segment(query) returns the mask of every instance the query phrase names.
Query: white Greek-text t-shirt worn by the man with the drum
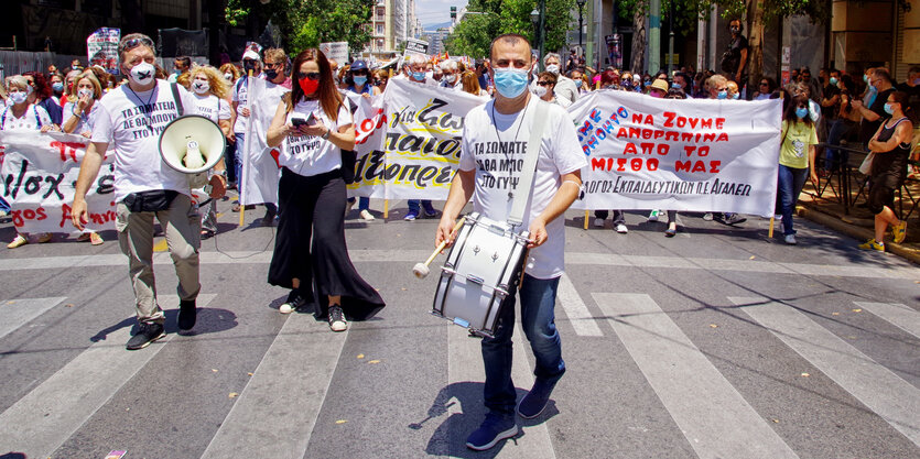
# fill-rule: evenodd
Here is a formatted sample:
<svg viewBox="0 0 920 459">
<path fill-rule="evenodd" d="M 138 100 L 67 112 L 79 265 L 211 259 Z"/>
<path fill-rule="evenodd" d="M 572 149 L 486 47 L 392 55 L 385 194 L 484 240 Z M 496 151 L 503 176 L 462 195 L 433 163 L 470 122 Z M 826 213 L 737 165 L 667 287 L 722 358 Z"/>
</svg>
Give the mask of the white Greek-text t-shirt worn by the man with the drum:
<svg viewBox="0 0 920 459">
<path fill-rule="evenodd" d="M 476 171 L 473 192 L 475 211 L 493 220 L 506 221 L 512 200 L 527 198 L 524 190 L 515 192 L 520 179 L 530 128 L 537 111 L 537 97 L 531 96 L 524 110 L 501 114 L 494 110 L 495 101 L 469 110 L 463 131 L 459 170 Z M 545 103 L 545 102 L 540 102 Z M 562 175 L 587 165 L 569 113 L 558 105 L 546 105 L 546 121 L 540 142 L 540 156 L 533 176 L 533 195 L 524 209 L 523 227 L 527 230 L 533 217 L 549 206 L 560 185 Z M 526 272 L 537 278 L 554 278 L 562 275 L 565 260 L 565 219 L 559 217 L 546 225 L 548 239 L 531 249 Z"/>
</svg>

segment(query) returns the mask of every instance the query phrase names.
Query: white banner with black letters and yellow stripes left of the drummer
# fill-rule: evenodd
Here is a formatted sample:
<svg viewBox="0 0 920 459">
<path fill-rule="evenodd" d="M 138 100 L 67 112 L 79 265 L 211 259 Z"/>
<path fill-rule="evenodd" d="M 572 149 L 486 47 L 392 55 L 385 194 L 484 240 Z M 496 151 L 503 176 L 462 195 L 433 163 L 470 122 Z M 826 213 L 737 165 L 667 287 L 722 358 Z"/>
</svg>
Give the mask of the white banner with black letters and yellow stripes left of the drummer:
<svg viewBox="0 0 920 459">
<path fill-rule="evenodd" d="M 464 118 L 485 100 L 405 79 L 390 79 L 382 98 L 381 119 L 356 120 L 358 131 L 361 125 L 376 130 L 355 146 L 353 195 L 446 199 L 459 162 Z"/>
</svg>

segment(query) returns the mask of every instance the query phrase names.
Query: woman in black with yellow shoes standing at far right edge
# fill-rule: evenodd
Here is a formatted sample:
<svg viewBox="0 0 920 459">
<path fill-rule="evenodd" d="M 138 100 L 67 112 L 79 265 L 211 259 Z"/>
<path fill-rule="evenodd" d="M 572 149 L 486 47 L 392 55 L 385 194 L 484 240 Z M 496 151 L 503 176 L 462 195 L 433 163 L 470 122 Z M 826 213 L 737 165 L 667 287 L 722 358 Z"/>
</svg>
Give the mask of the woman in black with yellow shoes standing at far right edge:
<svg viewBox="0 0 920 459">
<path fill-rule="evenodd" d="M 907 159 L 910 155 L 910 141 L 913 124 L 908 117 L 907 92 L 897 91 L 888 95 L 885 112 L 890 116 L 881 122 L 875 135 L 869 140 L 873 152 L 869 175 L 869 210 L 875 214 L 875 238 L 869 239 L 859 249 L 885 251 L 885 231 L 891 226 L 895 243 L 901 243 L 907 236 L 907 220 L 898 219 L 895 214 L 895 192 L 903 185 L 907 176 Z"/>
</svg>

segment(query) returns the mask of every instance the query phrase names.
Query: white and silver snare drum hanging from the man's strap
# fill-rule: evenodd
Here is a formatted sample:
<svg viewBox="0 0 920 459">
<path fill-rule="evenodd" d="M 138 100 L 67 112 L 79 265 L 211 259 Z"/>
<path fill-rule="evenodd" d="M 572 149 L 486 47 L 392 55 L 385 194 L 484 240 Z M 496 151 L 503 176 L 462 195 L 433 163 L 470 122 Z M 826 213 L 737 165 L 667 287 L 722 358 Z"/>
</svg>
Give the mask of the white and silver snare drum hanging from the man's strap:
<svg viewBox="0 0 920 459">
<path fill-rule="evenodd" d="M 501 303 L 518 286 L 528 236 L 509 223 L 468 215 L 441 267 L 432 314 L 493 337 Z"/>
</svg>

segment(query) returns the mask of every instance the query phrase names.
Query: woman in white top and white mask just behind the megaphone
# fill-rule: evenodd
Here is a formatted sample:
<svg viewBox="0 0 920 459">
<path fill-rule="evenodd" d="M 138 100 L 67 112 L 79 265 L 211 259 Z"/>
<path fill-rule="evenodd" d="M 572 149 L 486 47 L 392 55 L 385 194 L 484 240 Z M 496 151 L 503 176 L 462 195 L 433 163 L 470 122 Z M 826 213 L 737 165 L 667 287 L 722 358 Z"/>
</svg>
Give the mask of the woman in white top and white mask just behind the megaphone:
<svg viewBox="0 0 920 459">
<path fill-rule="evenodd" d="M 230 139 L 236 140 L 230 124 L 232 112 L 227 100 L 230 85 L 220 72 L 209 65 L 193 65 L 191 70 L 176 78 L 176 83 L 188 88 L 195 96 L 198 114 L 217 123 L 228 143 Z M 218 165 L 215 171 L 225 171 L 225 167 Z M 202 238 L 207 239 L 217 233 L 217 201 L 204 190 L 197 192 L 199 190 L 193 190 L 193 194 L 202 199 L 199 205 L 207 205 L 207 212 L 202 216 Z"/>
</svg>

